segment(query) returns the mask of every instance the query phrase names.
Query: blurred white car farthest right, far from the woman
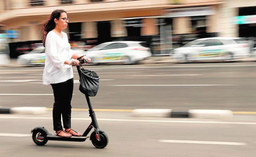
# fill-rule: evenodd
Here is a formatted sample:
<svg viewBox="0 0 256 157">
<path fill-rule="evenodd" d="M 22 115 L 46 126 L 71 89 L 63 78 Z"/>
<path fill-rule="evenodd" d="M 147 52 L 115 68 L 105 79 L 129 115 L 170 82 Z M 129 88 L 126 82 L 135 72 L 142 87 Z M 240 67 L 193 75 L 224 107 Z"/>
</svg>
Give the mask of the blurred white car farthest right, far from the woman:
<svg viewBox="0 0 256 157">
<path fill-rule="evenodd" d="M 180 62 L 224 60 L 249 57 L 250 47 L 241 38 L 201 38 L 174 49 L 173 57 Z"/>
</svg>

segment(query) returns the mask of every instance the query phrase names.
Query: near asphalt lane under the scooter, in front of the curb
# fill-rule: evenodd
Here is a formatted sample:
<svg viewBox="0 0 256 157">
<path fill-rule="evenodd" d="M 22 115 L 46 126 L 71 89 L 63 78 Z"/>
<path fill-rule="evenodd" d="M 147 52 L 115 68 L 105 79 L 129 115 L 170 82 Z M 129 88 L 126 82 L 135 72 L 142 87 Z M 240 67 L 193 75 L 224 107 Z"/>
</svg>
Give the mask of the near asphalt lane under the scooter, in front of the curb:
<svg viewBox="0 0 256 157">
<path fill-rule="evenodd" d="M 132 117 L 122 112 L 96 112 L 109 137 L 104 149 L 85 142 L 32 142 L 30 130 L 45 126 L 46 115 L 0 115 L 0 157 L 255 157 L 256 118 L 171 119 Z M 72 128 L 83 132 L 90 121 L 85 111 L 73 111 Z"/>
</svg>

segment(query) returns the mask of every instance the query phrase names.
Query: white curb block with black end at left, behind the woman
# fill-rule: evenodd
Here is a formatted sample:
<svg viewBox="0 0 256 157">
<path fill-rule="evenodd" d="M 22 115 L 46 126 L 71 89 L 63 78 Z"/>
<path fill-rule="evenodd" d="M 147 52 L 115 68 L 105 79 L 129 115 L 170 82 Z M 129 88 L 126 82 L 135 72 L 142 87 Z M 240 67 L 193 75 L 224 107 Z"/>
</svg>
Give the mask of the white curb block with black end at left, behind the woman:
<svg viewBox="0 0 256 157">
<path fill-rule="evenodd" d="M 47 107 L 0 107 L 0 114 L 39 115 L 47 113 Z"/>
</svg>

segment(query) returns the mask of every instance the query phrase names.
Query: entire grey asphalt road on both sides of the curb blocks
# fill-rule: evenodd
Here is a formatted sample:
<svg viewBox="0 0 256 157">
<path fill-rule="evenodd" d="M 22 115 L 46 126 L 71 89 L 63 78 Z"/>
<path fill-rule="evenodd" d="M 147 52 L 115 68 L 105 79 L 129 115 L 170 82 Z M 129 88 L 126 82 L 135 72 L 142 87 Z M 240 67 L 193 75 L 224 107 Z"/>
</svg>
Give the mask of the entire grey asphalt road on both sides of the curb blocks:
<svg viewBox="0 0 256 157">
<path fill-rule="evenodd" d="M 235 114 L 233 119 L 174 119 L 133 117 L 130 110 L 124 110 L 255 112 L 255 66 L 254 62 L 88 66 L 101 77 L 100 90 L 91 102 L 98 109 L 100 128 L 109 137 L 108 146 L 96 149 L 89 140 L 36 146 L 30 130 L 45 126 L 53 133 L 51 110 L 44 115 L 2 114 L 0 157 L 255 157 L 254 114 Z M 0 69 L 0 106 L 51 108 L 52 89 L 41 84 L 42 69 Z M 78 86 L 75 83 L 72 106 L 78 111 L 72 111 L 72 128 L 83 133 L 90 119 L 82 110 L 87 105 Z"/>
</svg>

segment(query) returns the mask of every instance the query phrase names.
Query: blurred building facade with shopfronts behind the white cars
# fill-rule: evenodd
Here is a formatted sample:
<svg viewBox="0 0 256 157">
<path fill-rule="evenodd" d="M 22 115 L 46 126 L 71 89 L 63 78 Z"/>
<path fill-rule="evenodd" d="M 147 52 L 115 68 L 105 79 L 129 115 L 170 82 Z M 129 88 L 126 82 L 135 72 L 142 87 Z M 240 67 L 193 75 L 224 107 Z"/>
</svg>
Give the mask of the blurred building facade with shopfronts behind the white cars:
<svg viewBox="0 0 256 157">
<path fill-rule="evenodd" d="M 10 58 L 41 43 L 41 24 L 55 9 L 80 50 L 110 41 L 143 41 L 151 54 L 171 55 L 192 40 L 242 37 L 255 46 L 256 2 L 249 0 L 0 0 L 0 51 Z"/>
</svg>

